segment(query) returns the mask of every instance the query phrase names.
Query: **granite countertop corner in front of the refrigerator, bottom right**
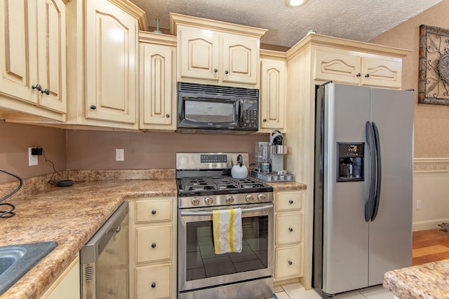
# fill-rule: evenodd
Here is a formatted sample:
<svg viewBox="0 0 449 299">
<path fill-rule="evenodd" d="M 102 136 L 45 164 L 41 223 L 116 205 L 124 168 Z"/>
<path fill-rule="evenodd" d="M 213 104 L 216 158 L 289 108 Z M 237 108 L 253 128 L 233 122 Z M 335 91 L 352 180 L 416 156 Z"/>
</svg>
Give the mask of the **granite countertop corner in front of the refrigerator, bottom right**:
<svg viewBox="0 0 449 299">
<path fill-rule="evenodd" d="M 391 270 L 383 286 L 398 298 L 449 298 L 449 260 Z"/>
</svg>

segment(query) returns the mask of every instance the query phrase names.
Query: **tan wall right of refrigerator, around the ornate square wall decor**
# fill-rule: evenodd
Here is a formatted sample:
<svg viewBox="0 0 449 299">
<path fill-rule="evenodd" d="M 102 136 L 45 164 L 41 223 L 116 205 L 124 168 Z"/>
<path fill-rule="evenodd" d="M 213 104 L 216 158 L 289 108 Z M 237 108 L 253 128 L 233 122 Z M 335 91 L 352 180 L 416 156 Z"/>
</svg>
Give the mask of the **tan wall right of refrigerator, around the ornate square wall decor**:
<svg viewBox="0 0 449 299">
<path fill-rule="evenodd" d="M 429 8 L 415 18 L 370 41 L 413 50 L 403 60 L 403 89 L 415 90 L 415 158 L 449 157 L 449 106 L 417 104 L 420 25 L 449 29 L 449 0 Z"/>
</svg>

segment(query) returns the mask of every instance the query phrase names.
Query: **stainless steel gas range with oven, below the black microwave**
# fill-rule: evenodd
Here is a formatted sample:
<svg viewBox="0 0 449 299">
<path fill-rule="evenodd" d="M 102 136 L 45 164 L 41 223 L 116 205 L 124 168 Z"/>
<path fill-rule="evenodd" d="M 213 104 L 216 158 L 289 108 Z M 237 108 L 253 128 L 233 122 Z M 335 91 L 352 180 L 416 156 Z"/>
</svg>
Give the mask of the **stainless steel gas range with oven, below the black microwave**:
<svg viewBox="0 0 449 299">
<path fill-rule="evenodd" d="M 178 298 L 271 298 L 273 189 L 230 176 L 238 153 L 177 153 Z M 248 165 L 248 153 L 241 154 Z M 215 254 L 213 209 L 241 208 L 241 253 Z"/>
</svg>

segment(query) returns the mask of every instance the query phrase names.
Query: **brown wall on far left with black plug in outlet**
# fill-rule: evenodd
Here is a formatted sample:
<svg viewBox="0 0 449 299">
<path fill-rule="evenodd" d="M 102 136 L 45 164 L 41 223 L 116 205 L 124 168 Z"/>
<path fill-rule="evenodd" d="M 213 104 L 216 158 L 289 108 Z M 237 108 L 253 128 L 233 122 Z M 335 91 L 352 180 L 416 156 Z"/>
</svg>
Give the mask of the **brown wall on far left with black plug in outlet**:
<svg viewBox="0 0 449 299">
<path fill-rule="evenodd" d="M 41 146 L 57 171 L 66 168 L 65 130 L 36 125 L 18 125 L 0 120 L 0 168 L 17 174 L 22 179 L 50 174 L 53 167 L 39 156 L 38 165 L 28 166 L 28 148 Z M 0 173 L 0 183 L 15 181 Z"/>
</svg>

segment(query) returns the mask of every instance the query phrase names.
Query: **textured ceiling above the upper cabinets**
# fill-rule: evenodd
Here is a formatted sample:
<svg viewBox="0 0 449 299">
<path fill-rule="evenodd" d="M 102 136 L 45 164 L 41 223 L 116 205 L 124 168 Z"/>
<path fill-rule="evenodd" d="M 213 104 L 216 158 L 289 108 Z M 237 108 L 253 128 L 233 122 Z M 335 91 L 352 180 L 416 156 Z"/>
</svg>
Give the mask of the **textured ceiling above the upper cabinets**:
<svg viewBox="0 0 449 299">
<path fill-rule="evenodd" d="M 268 29 L 261 43 L 291 47 L 309 30 L 329 36 L 370 41 L 441 0 L 309 0 L 287 8 L 284 0 L 130 0 L 147 13 L 149 26 L 169 13 Z"/>
</svg>

